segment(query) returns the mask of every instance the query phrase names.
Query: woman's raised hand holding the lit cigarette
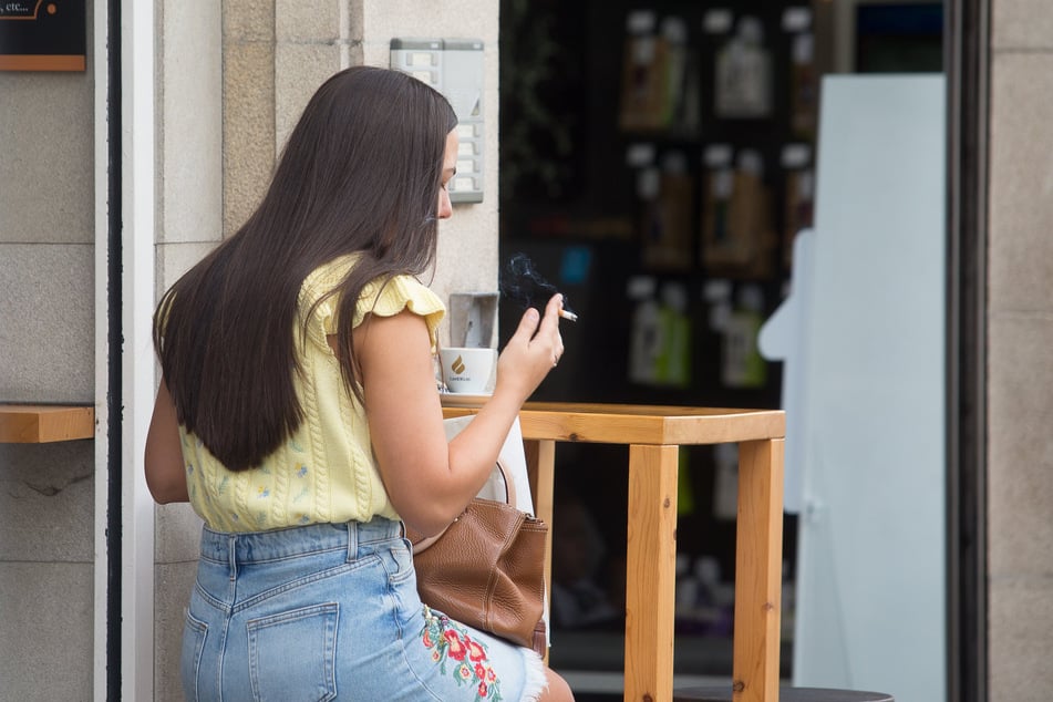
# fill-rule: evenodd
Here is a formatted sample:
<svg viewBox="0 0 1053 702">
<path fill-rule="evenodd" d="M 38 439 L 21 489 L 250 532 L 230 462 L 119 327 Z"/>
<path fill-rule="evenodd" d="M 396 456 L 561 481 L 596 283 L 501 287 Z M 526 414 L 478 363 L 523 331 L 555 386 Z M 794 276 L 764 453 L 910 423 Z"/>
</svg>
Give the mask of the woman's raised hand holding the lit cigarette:
<svg viewBox="0 0 1053 702">
<path fill-rule="evenodd" d="M 559 310 L 562 296 L 555 295 L 540 317 L 534 308 L 523 313 L 516 333 L 497 359 L 497 382 L 494 395 L 509 393 L 518 404 L 537 390 L 545 376 L 556 368 L 564 353 L 559 335 Z"/>
</svg>

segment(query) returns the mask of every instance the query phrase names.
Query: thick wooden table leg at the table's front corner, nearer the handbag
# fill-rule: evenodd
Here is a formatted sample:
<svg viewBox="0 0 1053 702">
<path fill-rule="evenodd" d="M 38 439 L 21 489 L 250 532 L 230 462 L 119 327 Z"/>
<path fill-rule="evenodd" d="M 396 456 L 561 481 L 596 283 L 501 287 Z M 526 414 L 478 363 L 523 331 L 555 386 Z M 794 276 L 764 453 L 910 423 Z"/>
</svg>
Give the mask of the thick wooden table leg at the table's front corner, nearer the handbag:
<svg viewBox="0 0 1053 702">
<path fill-rule="evenodd" d="M 678 453 L 629 447 L 626 702 L 673 698 Z"/>
</svg>

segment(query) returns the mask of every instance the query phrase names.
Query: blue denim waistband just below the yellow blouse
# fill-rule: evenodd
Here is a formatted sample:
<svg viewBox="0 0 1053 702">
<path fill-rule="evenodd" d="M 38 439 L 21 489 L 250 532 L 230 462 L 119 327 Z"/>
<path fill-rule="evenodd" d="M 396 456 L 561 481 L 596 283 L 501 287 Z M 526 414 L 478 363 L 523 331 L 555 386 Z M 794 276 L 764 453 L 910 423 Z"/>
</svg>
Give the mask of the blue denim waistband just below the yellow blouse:
<svg viewBox="0 0 1053 702">
<path fill-rule="evenodd" d="M 309 524 L 271 531 L 202 529 L 202 558 L 217 562 L 264 562 L 292 556 L 347 549 L 351 557 L 363 544 L 401 538 L 401 522 L 374 517 L 370 522 Z"/>
</svg>

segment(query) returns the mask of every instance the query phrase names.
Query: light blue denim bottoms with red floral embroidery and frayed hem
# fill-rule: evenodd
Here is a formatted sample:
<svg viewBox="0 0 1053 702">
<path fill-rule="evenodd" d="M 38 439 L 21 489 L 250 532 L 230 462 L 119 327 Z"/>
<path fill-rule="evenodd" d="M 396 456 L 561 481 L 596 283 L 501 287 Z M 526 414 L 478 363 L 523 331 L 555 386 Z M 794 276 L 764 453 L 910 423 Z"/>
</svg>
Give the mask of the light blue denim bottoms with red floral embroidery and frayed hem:
<svg viewBox="0 0 1053 702">
<path fill-rule="evenodd" d="M 402 525 L 204 529 L 183 636 L 187 700 L 533 700 L 529 649 L 421 602 Z"/>
</svg>

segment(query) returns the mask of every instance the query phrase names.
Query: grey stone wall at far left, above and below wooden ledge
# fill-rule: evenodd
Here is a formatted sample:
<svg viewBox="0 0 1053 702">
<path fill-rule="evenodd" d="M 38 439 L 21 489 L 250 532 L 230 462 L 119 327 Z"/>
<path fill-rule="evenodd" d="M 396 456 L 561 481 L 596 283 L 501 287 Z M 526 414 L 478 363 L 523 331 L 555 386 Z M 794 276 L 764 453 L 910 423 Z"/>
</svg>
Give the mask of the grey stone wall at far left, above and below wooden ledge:
<svg viewBox="0 0 1053 702">
<path fill-rule="evenodd" d="M 87 4 L 86 71 L 0 72 L 0 402 L 95 400 Z M 92 441 L 0 444 L 0 698 L 85 699 L 94 461 Z"/>
</svg>

